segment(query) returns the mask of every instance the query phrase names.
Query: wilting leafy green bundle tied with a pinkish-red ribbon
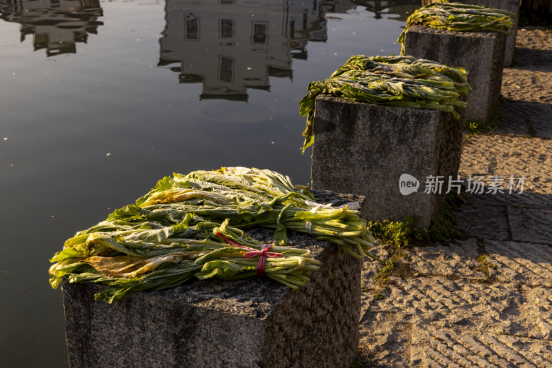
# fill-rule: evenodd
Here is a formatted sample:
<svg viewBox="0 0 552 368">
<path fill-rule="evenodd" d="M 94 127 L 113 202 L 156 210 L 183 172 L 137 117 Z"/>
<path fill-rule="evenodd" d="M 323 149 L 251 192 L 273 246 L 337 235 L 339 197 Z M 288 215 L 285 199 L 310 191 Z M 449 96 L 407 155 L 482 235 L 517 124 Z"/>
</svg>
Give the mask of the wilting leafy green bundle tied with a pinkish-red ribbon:
<svg viewBox="0 0 552 368">
<path fill-rule="evenodd" d="M 103 283 L 110 287 L 95 298 L 108 303 L 128 292 L 175 287 L 193 277 L 230 280 L 259 274 L 297 288 L 319 265 L 306 249 L 262 245 L 228 221 L 187 216 L 179 225 L 155 229 L 148 229 L 147 221 L 138 223 L 112 223 L 112 231 L 70 238 L 51 259 L 57 262 L 49 271 L 52 287 L 63 276 L 70 283 Z"/>
</svg>

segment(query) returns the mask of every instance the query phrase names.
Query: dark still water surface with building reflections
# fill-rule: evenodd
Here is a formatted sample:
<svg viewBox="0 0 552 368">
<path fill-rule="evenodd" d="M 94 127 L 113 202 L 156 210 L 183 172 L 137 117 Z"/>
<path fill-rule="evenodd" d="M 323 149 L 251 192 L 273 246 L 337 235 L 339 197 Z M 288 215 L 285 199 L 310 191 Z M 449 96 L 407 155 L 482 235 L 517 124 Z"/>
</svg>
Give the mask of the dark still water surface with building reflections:
<svg viewBox="0 0 552 368">
<path fill-rule="evenodd" d="M 68 367 L 48 259 L 163 176 L 242 165 L 308 183 L 308 82 L 398 54 L 419 6 L 0 0 L 0 367 Z"/>
</svg>

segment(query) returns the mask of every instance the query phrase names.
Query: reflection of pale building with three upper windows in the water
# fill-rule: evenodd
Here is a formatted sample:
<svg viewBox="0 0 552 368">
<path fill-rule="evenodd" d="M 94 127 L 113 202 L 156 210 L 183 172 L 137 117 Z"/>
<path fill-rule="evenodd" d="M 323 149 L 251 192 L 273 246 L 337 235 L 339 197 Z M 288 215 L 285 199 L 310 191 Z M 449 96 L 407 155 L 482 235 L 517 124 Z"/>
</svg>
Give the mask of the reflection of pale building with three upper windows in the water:
<svg viewBox="0 0 552 368">
<path fill-rule="evenodd" d="M 308 41 L 326 41 L 323 0 L 166 0 L 159 66 L 181 83 L 203 83 L 201 99 L 247 101 L 270 76 L 292 78 Z"/>
</svg>

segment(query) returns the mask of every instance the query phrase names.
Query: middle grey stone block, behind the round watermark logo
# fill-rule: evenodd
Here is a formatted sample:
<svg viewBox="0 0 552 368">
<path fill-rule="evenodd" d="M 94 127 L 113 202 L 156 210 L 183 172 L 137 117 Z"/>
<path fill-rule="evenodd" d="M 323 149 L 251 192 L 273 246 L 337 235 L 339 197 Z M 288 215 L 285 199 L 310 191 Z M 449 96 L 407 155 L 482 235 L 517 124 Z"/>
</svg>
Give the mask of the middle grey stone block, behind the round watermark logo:
<svg viewBox="0 0 552 368">
<path fill-rule="evenodd" d="M 415 214 L 417 225 L 428 227 L 444 202 L 449 176 L 456 178 L 462 130 L 449 112 L 318 96 L 311 185 L 365 196 L 367 220 L 402 221 Z M 401 194 L 402 174 L 419 182 L 417 192 Z M 444 176 L 441 193 L 426 194 L 428 176 Z"/>
</svg>

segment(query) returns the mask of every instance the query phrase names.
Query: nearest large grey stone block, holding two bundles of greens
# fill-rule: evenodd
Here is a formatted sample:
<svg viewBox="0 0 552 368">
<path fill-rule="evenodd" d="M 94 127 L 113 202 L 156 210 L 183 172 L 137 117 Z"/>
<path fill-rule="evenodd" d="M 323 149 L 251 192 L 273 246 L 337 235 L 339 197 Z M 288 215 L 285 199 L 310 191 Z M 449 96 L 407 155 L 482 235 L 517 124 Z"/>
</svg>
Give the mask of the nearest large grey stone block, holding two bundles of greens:
<svg viewBox="0 0 552 368">
<path fill-rule="evenodd" d="M 272 230 L 248 234 L 268 241 Z M 268 278 L 194 280 L 108 305 L 99 284 L 63 282 L 70 366 L 348 367 L 357 353 L 360 270 L 331 243 L 290 232 L 322 262 L 297 290 Z"/>
</svg>

